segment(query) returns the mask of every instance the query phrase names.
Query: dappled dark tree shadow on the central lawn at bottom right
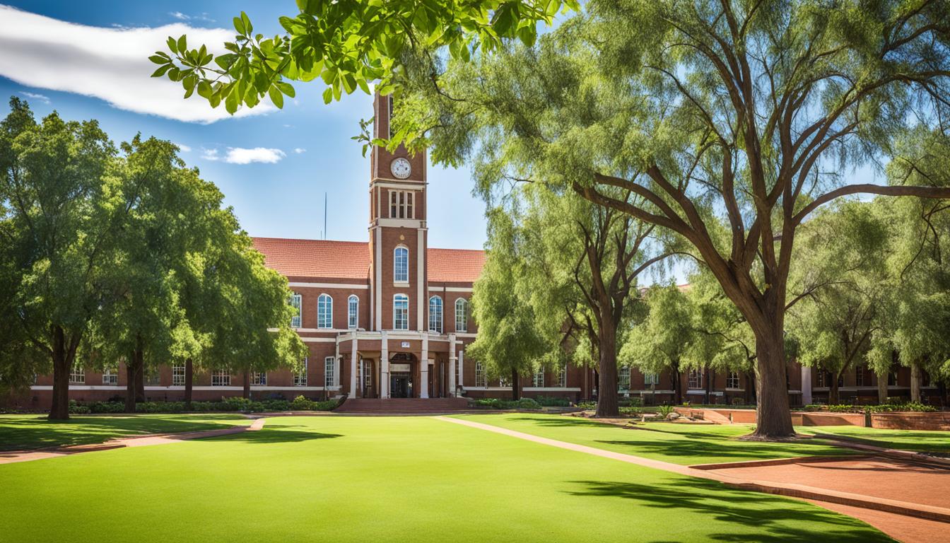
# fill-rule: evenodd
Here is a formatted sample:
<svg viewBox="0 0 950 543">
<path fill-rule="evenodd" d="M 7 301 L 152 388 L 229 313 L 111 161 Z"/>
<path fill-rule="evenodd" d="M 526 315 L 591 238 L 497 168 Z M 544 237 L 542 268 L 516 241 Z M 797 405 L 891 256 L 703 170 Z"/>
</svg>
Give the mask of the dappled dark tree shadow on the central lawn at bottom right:
<svg viewBox="0 0 950 543">
<path fill-rule="evenodd" d="M 708 540 L 774 543 L 892 541 L 883 533 L 843 514 L 787 498 L 727 489 L 704 479 L 666 481 L 662 485 L 591 480 L 570 482 L 585 487 L 584 490 L 569 492 L 571 495 L 620 497 L 631 500 L 637 507 L 687 510 L 758 530 L 754 534 L 707 533 L 704 537 Z"/>
</svg>

